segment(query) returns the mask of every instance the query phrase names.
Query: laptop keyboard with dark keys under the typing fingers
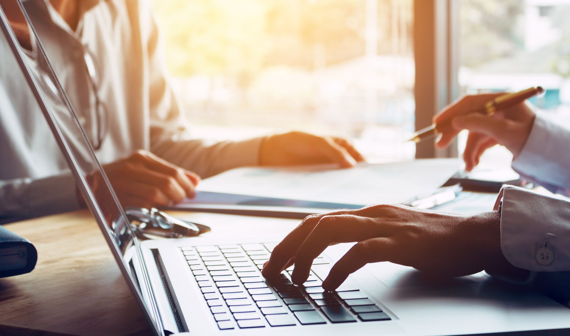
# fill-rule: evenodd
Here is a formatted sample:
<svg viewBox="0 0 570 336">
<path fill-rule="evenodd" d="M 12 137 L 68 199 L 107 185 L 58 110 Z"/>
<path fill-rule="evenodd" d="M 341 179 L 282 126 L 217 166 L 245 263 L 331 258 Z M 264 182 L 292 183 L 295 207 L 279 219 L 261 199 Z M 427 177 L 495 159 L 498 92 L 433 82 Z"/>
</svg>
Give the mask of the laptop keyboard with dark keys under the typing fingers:
<svg viewBox="0 0 570 336">
<path fill-rule="evenodd" d="M 183 247 L 182 253 L 219 329 L 386 321 L 367 295 L 348 282 L 335 292 L 321 287 L 330 265 L 317 257 L 303 285 L 293 267 L 268 281 L 260 270 L 276 243 Z"/>
</svg>

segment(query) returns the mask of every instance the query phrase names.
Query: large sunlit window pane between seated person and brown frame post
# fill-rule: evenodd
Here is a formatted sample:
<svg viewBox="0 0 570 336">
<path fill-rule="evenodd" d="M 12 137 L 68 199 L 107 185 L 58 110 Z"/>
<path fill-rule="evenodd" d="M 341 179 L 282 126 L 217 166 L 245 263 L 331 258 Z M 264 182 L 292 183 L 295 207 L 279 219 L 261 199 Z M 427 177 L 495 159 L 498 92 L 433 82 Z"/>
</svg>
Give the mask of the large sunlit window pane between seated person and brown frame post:
<svg viewBox="0 0 570 336">
<path fill-rule="evenodd" d="M 412 0 L 154 0 L 194 134 L 339 134 L 413 158 Z"/>
</svg>

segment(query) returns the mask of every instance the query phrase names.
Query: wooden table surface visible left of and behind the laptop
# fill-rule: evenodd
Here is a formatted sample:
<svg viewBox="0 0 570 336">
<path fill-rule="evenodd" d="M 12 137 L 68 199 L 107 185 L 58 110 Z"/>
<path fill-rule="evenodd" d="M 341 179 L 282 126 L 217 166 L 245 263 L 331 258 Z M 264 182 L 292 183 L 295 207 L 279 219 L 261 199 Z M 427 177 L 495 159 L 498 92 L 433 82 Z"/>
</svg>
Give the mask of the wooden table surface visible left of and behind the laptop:
<svg viewBox="0 0 570 336">
<path fill-rule="evenodd" d="M 169 212 L 208 224 L 205 235 L 286 234 L 298 220 Z M 99 227 L 85 211 L 7 224 L 38 249 L 31 273 L 0 278 L 0 335 L 150 335 Z"/>
</svg>

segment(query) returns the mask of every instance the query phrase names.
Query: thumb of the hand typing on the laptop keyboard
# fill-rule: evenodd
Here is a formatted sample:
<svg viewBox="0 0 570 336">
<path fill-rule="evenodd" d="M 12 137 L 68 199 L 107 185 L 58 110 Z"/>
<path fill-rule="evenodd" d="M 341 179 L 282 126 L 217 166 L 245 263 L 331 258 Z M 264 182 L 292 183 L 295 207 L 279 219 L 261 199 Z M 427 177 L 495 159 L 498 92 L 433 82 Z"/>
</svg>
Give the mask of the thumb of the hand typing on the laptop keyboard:
<svg viewBox="0 0 570 336">
<path fill-rule="evenodd" d="M 331 268 L 327 278 L 323 281 L 325 290 L 337 289 L 347 277 L 368 263 L 389 261 L 393 253 L 394 243 L 388 237 L 372 238 L 355 244 Z"/>
</svg>

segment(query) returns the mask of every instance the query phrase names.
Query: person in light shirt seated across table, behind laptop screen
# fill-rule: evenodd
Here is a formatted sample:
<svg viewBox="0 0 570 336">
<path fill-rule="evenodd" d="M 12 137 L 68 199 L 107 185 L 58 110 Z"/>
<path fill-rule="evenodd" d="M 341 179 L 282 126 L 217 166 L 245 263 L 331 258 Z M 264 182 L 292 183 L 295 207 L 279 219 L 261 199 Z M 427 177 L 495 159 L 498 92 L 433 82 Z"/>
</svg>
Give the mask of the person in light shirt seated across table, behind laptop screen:
<svg viewBox="0 0 570 336">
<path fill-rule="evenodd" d="M 22 46 L 31 48 L 25 20 L 14 15 L 18 3 L 0 0 L 0 5 Z M 236 142 L 193 138 L 166 73 L 149 1 L 28 0 L 23 5 L 123 206 L 181 202 L 194 196 L 200 178 L 239 166 L 351 167 L 364 160 L 344 138 L 303 132 Z M 10 52 L 3 55 L 13 58 Z M 22 90 L 23 79 L 14 84 L 19 78 L 17 66 L 0 72 L 0 96 L 7 97 L 0 99 L 5 144 L 0 146 L 0 223 L 81 204 L 34 97 Z"/>
</svg>

